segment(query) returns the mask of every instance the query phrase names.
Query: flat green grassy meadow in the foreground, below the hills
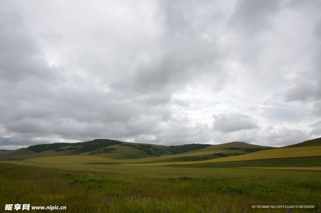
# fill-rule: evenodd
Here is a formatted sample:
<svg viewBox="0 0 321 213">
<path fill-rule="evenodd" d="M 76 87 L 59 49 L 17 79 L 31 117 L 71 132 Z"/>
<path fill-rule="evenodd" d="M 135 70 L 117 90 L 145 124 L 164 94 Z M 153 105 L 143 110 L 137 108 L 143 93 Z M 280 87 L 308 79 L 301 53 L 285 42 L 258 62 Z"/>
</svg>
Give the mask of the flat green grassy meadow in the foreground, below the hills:
<svg viewBox="0 0 321 213">
<path fill-rule="evenodd" d="M 0 163 L 0 207 L 11 204 L 67 206 L 53 212 L 253 212 L 249 204 L 321 205 L 321 171 L 225 168 L 212 175 L 195 168 L 168 168 L 195 175 L 148 177 L 164 167 L 145 167 L 146 175 L 118 166 L 117 174 L 82 172 Z M 112 168 L 112 166 L 110 166 Z M 182 171 L 178 171 L 182 170 Z M 208 169 L 207 169 L 208 171 Z M 287 212 L 286 209 L 254 212 Z M 10 211 L 7 211 L 10 212 Z M 17 211 L 19 212 L 19 211 Z M 49 212 L 29 210 L 27 212 Z"/>
</svg>

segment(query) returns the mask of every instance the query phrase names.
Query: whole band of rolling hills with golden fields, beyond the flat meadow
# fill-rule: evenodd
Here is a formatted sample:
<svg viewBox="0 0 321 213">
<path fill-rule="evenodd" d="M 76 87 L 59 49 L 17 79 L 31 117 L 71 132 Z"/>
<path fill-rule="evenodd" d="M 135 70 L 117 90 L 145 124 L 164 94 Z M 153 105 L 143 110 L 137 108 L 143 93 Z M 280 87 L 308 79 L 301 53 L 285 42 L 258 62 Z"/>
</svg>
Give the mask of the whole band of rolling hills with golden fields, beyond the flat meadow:
<svg viewBox="0 0 321 213">
<path fill-rule="evenodd" d="M 109 139 L 39 144 L 0 153 L 1 161 L 138 167 L 321 167 L 321 138 L 275 148 L 231 142 L 164 146 Z"/>
</svg>

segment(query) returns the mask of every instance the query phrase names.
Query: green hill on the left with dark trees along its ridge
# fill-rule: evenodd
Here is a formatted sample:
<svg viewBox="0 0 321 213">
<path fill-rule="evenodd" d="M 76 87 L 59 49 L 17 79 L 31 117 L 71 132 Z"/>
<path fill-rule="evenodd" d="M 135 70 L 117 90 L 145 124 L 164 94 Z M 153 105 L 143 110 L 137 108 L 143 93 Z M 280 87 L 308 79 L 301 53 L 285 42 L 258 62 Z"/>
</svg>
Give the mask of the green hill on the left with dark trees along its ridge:
<svg viewBox="0 0 321 213">
<path fill-rule="evenodd" d="M 114 145 L 117 145 L 117 148 L 115 148 L 116 146 Z M 126 148 L 122 148 L 118 145 L 122 145 L 122 147 Z M 117 152 L 114 149 L 117 149 Z M 39 144 L 28 148 L 1 152 L 0 160 L 24 160 L 75 154 L 97 157 L 104 156 L 108 158 L 111 157 L 112 159 L 138 159 L 160 156 L 164 153 L 168 153 L 168 151 L 169 146 L 135 144 L 110 139 L 95 139 L 93 141 L 79 143 Z"/>
</svg>

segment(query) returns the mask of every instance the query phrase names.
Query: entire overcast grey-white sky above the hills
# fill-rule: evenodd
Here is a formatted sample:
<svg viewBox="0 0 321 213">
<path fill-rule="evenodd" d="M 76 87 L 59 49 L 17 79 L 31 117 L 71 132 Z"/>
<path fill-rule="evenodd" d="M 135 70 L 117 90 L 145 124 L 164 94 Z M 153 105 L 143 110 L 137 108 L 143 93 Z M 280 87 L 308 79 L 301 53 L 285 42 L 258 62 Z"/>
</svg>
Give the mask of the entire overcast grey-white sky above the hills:
<svg viewBox="0 0 321 213">
<path fill-rule="evenodd" d="M 321 137 L 319 0 L 0 1 L 0 148 Z"/>
</svg>

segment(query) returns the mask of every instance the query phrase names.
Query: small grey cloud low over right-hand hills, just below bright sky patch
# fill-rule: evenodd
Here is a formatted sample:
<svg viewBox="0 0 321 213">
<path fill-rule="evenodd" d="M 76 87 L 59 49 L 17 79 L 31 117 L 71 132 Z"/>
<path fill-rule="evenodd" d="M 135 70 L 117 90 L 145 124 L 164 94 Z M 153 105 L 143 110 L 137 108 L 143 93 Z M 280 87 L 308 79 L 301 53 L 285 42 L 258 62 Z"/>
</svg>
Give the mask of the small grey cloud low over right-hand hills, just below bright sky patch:
<svg viewBox="0 0 321 213">
<path fill-rule="evenodd" d="M 223 133 L 258 128 L 251 116 L 240 113 L 231 112 L 229 114 L 212 115 L 212 117 L 215 119 L 213 121 L 214 129 Z"/>
</svg>

